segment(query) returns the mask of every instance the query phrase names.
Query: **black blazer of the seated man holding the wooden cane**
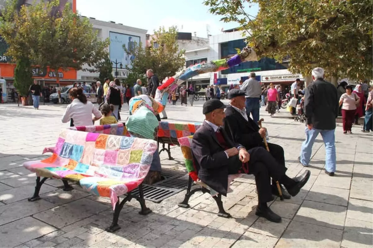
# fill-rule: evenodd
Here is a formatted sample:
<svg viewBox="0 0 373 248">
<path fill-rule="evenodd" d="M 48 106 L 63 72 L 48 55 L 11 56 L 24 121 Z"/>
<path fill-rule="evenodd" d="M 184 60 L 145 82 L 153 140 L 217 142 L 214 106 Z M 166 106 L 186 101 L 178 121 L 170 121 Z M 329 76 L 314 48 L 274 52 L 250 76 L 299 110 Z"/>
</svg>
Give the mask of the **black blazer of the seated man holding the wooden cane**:
<svg viewBox="0 0 373 248">
<path fill-rule="evenodd" d="M 247 150 L 263 143 L 259 126 L 248 116 L 248 121 L 232 106 L 225 109 L 223 128 L 231 140 L 242 144 Z"/>
</svg>

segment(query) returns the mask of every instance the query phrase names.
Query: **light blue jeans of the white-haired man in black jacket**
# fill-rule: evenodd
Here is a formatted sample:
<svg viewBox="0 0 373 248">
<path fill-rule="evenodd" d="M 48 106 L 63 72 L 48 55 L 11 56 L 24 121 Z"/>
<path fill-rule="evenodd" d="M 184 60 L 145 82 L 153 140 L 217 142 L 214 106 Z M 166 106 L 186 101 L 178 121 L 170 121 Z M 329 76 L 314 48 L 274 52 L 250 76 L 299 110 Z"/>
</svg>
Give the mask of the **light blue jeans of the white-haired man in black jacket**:
<svg viewBox="0 0 373 248">
<path fill-rule="evenodd" d="M 301 147 L 300 160 L 301 164 L 308 166 L 311 160 L 312 146 L 319 133 L 323 137 L 325 144 L 325 170 L 327 172 L 335 172 L 336 169 L 336 155 L 335 155 L 335 129 L 333 130 L 320 130 L 305 128 L 305 141 Z"/>
</svg>

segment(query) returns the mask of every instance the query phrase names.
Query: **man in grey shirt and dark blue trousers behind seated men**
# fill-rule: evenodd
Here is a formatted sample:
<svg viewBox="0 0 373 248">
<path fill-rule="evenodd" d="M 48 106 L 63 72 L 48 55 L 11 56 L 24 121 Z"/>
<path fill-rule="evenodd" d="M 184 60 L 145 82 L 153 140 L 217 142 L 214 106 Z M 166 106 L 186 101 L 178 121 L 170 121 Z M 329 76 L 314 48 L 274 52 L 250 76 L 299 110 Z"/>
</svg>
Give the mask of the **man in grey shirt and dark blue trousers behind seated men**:
<svg viewBox="0 0 373 248">
<path fill-rule="evenodd" d="M 260 83 L 255 79 L 256 75 L 254 72 L 250 73 L 250 78 L 245 80 L 241 85 L 240 89 L 245 91 L 245 106 L 246 113 L 248 116 L 253 116 L 255 123 L 259 121 L 259 109 L 260 109 L 260 95 L 261 86 Z"/>
</svg>

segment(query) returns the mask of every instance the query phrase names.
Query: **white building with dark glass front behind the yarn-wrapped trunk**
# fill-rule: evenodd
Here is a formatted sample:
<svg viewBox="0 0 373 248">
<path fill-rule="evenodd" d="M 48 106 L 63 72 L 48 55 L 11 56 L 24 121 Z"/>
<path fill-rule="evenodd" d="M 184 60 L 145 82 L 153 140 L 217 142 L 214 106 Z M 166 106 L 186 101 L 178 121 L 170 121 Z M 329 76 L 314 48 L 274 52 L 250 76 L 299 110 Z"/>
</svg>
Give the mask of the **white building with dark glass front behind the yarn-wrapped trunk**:
<svg viewBox="0 0 373 248">
<path fill-rule="evenodd" d="M 235 31 L 235 29 L 226 30 L 222 34 L 210 37 L 208 60 L 231 57 L 237 53 L 235 48 L 242 49 L 243 47 L 245 47 L 245 40 L 242 36 L 242 31 Z M 219 81 L 222 86 L 238 84 L 241 79 L 247 79 L 250 72 L 255 72 L 257 80 L 264 84 L 273 82 L 275 84 L 289 85 L 297 78 L 304 80 L 301 74 L 292 74 L 285 66 L 276 63 L 275 60 L 262 58 L 259 61 L 244 62 L 227 70 L 210 73 L 210 84 L 212 85 L 216 81 Z"/>
</svg>

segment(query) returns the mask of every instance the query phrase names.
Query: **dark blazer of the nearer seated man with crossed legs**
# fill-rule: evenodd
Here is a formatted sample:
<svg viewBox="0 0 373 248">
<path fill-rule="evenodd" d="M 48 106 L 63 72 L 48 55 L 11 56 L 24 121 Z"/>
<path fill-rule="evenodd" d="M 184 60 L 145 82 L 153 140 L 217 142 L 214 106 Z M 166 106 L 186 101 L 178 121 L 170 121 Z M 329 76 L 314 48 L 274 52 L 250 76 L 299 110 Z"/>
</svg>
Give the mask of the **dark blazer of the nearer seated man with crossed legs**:
<svg viewBox="0 0 373 248">
<path fill-rule="evenodd" d="M 239 147 L 222 129 L 222 134 L 229 147 Z M 198 170 L 198 178 L 222 195 L 227 194 L 228 166 L 241 163 L 238 156 L 227 158 L 224 148 L 220 145 L 214 129 L 206 122 L 195 132 L 192 140 L 194 164 Z"/>
</svg>

